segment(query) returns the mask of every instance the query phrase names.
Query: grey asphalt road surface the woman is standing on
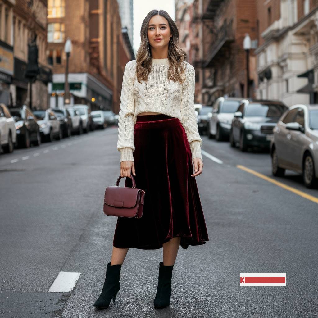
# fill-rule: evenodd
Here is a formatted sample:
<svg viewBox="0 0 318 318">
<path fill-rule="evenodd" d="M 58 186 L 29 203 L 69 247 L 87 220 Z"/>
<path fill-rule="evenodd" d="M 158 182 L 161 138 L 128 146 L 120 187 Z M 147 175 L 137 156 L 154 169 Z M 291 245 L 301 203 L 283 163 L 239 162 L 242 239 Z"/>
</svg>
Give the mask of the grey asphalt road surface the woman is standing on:
<svg viewBox="0 0 318 318">
<path fill-rule="evenodd" d="M 317 317 L 318 190 L 288 170 L 273 177 L 266 152 L 206 136 L 196 181 L 209 241 L 180 247 L 170 307 L 153 308 L 162 249 L 130 249 L 116 302 L 95 310 L 116 224 L 102 204 L 120 174 L 117 136 L 111 127 L 0 155 L 0 317 Z M 60 271 L 80 273 L 71 292 L 48 291 Z M 240 287 L 241 272 L 286 272 L 287 286 Z"/>
</svg>

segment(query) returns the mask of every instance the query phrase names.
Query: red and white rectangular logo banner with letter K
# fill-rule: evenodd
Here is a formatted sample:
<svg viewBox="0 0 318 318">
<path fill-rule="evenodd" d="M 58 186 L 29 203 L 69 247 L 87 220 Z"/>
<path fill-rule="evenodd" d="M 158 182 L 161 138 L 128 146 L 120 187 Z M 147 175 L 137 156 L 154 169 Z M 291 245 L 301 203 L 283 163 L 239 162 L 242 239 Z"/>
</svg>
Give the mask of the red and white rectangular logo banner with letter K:
<svg viewBox="0 0 318 318">
<path fill-rule="evenodd" d="M 239 286 L 286 286 L 286 273 L 239 273 Z"/>
</svg>

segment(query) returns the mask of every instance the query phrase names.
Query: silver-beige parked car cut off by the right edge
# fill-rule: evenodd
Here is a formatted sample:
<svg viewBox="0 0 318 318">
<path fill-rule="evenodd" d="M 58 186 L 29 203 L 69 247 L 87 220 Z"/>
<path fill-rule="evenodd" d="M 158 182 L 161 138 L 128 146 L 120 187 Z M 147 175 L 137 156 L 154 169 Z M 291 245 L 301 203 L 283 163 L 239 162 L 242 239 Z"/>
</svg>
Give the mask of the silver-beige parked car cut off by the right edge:
<svg viewBox="0 0 318 318">
<path fill-rule="evenodd" d="M 273 129 L 272 172 L 284 176 L 285 169 L 302 174 L 308 188 L 318 179 L 318 105 L 294 105 Z"/>
</svg>

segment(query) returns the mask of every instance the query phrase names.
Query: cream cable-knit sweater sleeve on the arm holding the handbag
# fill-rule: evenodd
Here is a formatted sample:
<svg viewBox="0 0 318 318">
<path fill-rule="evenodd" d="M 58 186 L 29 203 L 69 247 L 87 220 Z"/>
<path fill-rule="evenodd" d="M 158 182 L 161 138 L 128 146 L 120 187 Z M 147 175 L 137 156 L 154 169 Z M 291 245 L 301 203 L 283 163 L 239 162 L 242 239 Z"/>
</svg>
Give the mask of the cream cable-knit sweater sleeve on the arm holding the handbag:
<svg viewBox="0 0 318 318">
<path fill-rule="evenodd" d="M 128 62 L 129 63 L 129 62 Z M 134 161 L 133 151 L 134 145 L 134 114 L 135 114 L 135 99 L 133 93 L 133 76 L 131 76 L 128 63 L 125 66 L 121 97 L 120 111 L 118 118 L 118 141 L 117 150 L 121 153 L 120 162 Z"/>
</svg>

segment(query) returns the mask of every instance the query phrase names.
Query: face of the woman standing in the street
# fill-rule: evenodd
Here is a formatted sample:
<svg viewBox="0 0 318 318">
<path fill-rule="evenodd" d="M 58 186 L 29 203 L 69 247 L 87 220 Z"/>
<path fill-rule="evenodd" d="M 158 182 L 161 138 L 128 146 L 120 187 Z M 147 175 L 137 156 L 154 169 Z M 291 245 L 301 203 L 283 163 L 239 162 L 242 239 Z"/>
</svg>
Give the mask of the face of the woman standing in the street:
<svg viewBox="0 0 318 318">
<path fill-rule="evenodd" d="M 159 14 L 153 16 L 148 24 L 147 35 L 149 44 L 154 49 L 168 46 L 171 36 L 168 21 Z M 156 38 L 160 38 L 161 40 L 156 41 Z"/>
</svg>

